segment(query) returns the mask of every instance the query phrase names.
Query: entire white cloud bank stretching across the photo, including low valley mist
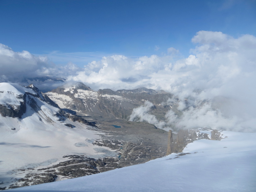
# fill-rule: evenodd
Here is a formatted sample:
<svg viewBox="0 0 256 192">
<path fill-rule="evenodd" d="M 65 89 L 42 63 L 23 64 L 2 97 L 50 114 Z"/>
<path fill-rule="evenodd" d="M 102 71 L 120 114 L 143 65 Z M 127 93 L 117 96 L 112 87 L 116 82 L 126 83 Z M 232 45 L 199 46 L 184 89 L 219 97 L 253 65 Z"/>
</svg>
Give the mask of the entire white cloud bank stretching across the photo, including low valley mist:
<svg viewBox="0 0 256 192">
<path fill-rule="evenodd" d="M 138 115 L 139 110 L 147 111 L 140 111 L 140 120 L 170 128 L 256 130 L 256 37 L 246 34 L 234 38 L 222 32 L 199 31 L 192 42 L 195 47 L 186 58 L 170 47 L 162 56 L 113 55 L 83 68 L 73 63 L 49 64 L 45 57 L 14 52 L 1 44 L 0 81 L 58 74 L 67 82 L 83 82 L 94 90 L 162 89 L 179 98 L 176 104 L 182 115 L 169 111 L 164 125 L 150 116 L 150 103 L 136 109 L 133 115 Z"/>
</svg>

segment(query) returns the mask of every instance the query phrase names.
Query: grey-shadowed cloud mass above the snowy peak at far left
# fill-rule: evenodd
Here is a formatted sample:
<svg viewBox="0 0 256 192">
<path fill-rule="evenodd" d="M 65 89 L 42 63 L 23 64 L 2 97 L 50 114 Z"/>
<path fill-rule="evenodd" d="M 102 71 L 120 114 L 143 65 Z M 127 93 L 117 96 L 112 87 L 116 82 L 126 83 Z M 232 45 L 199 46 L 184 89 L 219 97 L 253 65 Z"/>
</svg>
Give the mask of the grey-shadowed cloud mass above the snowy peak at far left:
<svg viewBox="0 0 256 192">
<path fill-rule="evenodd" d="M 57 66 L 49 62 L 46 56 L 35 56 L 28 51 L 15 52 L 0 43 L 0 82 L 38 84 L 40 77 L 49 77 L 48 80 L 41 79 L 43 82 L 37 85 L 42 91 L 49 91 L 63 84 L 61 81 L 53 81 L 53 78 L 76 75 L 79 70 L 81 69 L 71 62 L 65 66 Z"/>
</svg>

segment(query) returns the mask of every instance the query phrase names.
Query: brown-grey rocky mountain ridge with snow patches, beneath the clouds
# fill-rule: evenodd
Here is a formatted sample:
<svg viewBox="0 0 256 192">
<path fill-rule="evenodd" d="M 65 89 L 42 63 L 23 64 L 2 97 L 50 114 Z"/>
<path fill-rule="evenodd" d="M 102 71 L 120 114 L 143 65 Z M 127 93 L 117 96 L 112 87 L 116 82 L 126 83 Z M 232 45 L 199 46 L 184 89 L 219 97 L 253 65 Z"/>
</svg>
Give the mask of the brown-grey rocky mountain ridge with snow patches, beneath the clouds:
<svg viewBox="0 0 256 192">
<path fill-rule="evenodd" d="M 164 91 L 147 88 L 134 90 L 100 89 L 98 92 L 82 83 L 72 87 L 59 87 L 46 93 L 63 110 L 92 117 L 128 120 L 132 110 L 150 101 L 154 104 L 152 114 L 161 120 L 171 109 L 170 105 L 162 105 L 173 95 Z"/>
</svg>

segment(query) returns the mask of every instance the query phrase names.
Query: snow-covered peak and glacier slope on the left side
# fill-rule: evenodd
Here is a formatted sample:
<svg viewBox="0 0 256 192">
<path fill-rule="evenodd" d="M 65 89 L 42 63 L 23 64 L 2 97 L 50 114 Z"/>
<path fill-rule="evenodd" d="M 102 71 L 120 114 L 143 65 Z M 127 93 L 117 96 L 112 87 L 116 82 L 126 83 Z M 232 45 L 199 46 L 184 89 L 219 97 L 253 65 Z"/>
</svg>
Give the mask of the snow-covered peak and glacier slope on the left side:
<svg viewBox="0 0 256 192">
<path fill-rule="evenodd" d="M 7 108 L 20 105 L 24 101 L 20 95 L 24 94 L 26 113 L 21 119 L 0 115 L 0 183 L 4 183 L 0 187 L 10 185 L 11 178 L 24 177 L 28 170 L 22 170 L 57 164 L 63 161 L 64 155 L 80 154 L 99 158 L 105 155 L 96 148 L 110 150 L 87 142 L 100 139 L 97 128 L 65 117 L 60 119 L 56 116 L 60 109 L 43 101 L 30 88 L 0 83 L 0 104 Z"/>
</svg>

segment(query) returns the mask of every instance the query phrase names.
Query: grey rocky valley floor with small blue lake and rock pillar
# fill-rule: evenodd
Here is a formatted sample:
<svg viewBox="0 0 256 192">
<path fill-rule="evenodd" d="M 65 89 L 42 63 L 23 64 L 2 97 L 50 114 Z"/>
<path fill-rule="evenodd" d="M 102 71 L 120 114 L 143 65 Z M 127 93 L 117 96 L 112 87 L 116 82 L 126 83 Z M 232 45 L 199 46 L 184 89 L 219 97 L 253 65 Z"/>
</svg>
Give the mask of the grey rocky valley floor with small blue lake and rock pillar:
<svg viewBox="0 0 256 192">
<path fill-rule="evenodd" d="M 105 152 L 106 157 L 98 159 L 86 155 L 65 155 L 63 161 L 41 169 L 31 169 L 24 178 L 16 179 L 9 187 L 36 185 L 54 182 L 60 178 L 76 178 L 145 163 L 149 160 L 177 153 L 178 158 L 190 153 L 181 153 L 186 145 L 198 139 L 222 139 L 220 130 L 180 130 L 177 134 L 164 131 L 146 122 L 124 120 L 101 120 L 96 122 L 101 139 L 88 140 L 97 146 L 104 146 L 115 152 Z M 179 154 L 180 153 L 180 154 Z M 25 171 L 25 170 L 20 170 Z"/>
</svg>

